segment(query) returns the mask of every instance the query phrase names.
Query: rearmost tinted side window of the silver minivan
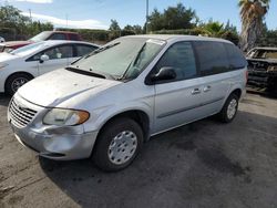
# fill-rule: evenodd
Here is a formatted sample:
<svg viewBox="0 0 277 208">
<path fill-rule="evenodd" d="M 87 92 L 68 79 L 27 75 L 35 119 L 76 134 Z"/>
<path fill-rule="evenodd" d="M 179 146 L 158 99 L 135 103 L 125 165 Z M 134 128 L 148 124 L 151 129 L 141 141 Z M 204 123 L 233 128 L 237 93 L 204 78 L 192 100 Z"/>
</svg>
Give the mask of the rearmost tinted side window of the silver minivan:
<svg viewBox="0 0 277 208">
<path fill-rule="evenodd" d="M 243 52 L 233 44 L 224 44 L 228 54 L 229 65 L 232 70 L 239 70 L 247 65 Z"/>
</svg>

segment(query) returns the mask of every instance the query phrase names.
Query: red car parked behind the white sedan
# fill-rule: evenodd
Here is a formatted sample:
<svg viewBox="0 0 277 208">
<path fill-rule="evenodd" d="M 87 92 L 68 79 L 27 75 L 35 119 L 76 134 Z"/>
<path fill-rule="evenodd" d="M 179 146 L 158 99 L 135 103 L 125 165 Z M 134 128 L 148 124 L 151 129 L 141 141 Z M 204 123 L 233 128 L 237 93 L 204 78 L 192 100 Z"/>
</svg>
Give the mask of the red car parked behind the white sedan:
<svg viewBox="0 0 277 208">
<path fill-rule="evenodd" d="M 44 31 L 28 41 L 7 41 L 0 44 L 0 52 L 10 52 L 12 50 L 19 49 L 21 46 L 49 40 L 68 40 L 68 41 L 81 41 L 81 37 L 75 32 L 68 31 Z"/>
</svg>

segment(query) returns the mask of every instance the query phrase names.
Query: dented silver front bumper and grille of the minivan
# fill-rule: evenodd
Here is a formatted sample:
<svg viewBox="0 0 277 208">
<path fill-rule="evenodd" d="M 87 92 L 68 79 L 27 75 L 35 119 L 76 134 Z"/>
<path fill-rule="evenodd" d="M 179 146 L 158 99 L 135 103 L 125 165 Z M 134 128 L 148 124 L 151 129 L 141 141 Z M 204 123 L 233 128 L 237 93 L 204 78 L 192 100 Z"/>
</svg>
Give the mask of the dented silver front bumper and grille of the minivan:
<svg viewBox="0 0 277 208">
<path fill-rule="evenodd" d="M 48 111 L 16 94 L 9 104 L 8 122 L 17 139 L 39 155 L 55 160 L 90 157 L 98 131 L 86 133 L 83 125 L 44 125 L 42 119 Z"/>
</svg>

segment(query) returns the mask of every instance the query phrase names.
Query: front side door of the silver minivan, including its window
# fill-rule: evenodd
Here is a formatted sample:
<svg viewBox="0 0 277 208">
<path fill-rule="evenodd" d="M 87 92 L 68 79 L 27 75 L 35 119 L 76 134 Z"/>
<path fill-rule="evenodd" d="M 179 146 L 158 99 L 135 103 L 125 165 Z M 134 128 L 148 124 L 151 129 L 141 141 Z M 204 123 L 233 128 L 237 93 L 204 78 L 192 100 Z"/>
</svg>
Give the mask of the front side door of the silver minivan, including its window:
<svg viewBox="0 0 277 208">
<path fill-rule="evenodd" d="M 204 81 L 198 77 L 191 42 L 173 44 L 155 66 L 173 67 L 177 74 L 171 82 L 155 84 L 154 134 L 198 119 L 205 115 L 201 103 Z"/>
</svg>

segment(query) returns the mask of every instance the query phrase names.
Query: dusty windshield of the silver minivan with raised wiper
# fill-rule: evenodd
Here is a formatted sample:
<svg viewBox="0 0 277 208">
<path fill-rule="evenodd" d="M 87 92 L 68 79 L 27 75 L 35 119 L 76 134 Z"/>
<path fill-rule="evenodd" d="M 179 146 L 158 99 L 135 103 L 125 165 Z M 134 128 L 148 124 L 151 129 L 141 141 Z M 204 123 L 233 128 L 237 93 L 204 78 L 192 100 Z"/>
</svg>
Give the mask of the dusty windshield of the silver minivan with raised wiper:
<svg viewBox="0 0 277 208">
<path fill-rule="evenodd" d="M 165 41 L 147 38 L 121 38 L 73 63 L 84 71 L 134 79 L 161 51 Z"/>
</svg>

